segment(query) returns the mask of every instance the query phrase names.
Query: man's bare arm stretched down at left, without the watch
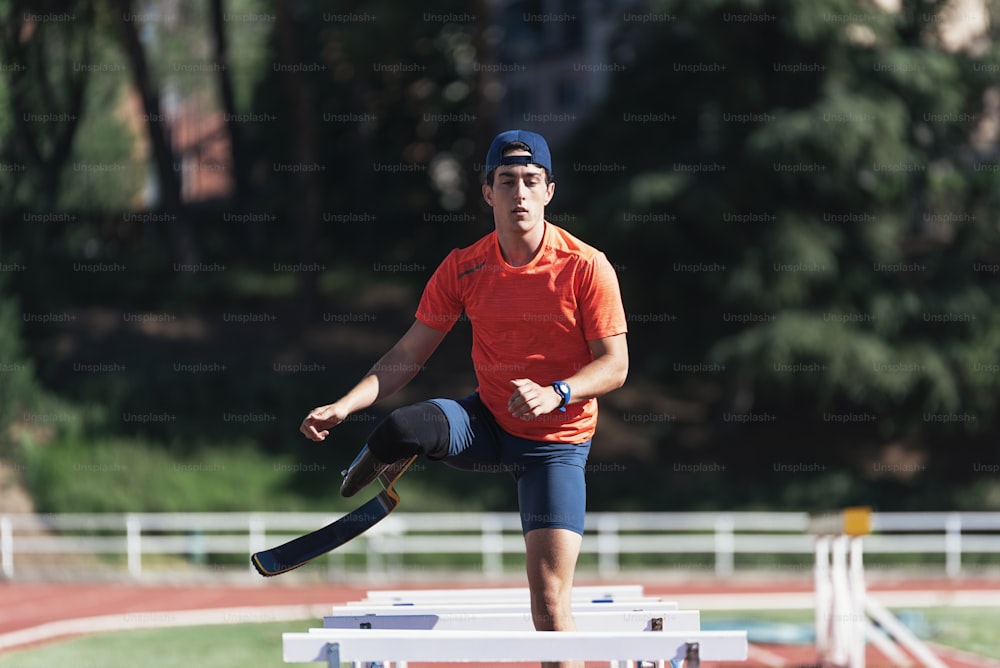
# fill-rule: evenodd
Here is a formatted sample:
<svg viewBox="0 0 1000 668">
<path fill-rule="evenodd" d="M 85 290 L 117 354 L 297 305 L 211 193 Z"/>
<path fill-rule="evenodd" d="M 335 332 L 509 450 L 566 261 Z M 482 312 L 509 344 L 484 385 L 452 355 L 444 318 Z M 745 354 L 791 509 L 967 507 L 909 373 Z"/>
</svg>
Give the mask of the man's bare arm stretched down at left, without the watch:
<svg viewBox="0 0 1000 668">
<path fill-rule="evenodd" d="M 434 329 L 419 320 L 375 363 L 347 394 L 326 406 L 314 408 L 302 421 L 299 431 L 306 438 L 322 441 L 351 413 L 396 393 L 409 383 L 444 339 L 446 331 Z"/>
</svg>

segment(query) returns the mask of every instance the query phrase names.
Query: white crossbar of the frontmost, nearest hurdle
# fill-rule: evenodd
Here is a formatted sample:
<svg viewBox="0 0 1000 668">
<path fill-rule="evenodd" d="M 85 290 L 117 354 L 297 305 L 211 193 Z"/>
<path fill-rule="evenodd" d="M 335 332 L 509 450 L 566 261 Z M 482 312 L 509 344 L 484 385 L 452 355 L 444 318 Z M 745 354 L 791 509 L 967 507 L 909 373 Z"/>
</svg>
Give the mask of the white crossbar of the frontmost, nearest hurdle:
<svg viewBox="0 0 1000 668">
<path fill-rule="evenodd" d="M 285 663 L 433 661 L 744 661 L 746 631 L 647 633 L 312 629 L 285 633 Z"/>
</svg>

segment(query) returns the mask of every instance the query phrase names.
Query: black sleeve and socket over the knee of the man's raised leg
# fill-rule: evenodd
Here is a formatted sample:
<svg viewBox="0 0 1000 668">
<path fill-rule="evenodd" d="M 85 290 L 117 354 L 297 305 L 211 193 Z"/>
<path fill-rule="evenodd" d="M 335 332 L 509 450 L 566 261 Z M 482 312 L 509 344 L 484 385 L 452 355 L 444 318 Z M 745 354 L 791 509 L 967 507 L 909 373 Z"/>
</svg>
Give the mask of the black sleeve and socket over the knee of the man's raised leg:
<svg viewBox="0 0 1000 668">
<path fill-rule="evenodd" d="M 413 455 L 440 459 L 451 441 L 448 418 L 429 401 L 397 408 L 368 437 L 368 449 L 387 464 Z"/>
</svg>

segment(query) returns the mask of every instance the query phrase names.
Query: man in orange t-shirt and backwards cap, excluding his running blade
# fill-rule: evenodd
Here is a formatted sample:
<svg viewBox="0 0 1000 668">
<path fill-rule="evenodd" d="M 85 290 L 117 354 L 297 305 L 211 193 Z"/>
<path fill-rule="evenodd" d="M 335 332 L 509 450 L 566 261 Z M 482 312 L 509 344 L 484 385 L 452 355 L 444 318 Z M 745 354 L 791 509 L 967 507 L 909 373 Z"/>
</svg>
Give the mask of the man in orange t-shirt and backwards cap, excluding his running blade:
<svg viewBox="0 0 1000 668">
<path fill-rule="evenodd" d="M 554 192 L 545 139 L 523 130 L 499 134 L 483 185 L 494 231 L 445 258 L 410 329 L 346 395 L 311 411 L 301 431 L 322 441 L 351 413 L 402 388 L 464 312 L 476 392 L 393 411 L 351 464 L 341 492 L 356 493 L 414 454 L 459 469 L 509 471 L 518 485 L 535 628 L 560 631 L 574 628 L 570 593 L 596 399 L 625 382 L 628 348 L 614 268 L 545 220 Z"/>
</svg>

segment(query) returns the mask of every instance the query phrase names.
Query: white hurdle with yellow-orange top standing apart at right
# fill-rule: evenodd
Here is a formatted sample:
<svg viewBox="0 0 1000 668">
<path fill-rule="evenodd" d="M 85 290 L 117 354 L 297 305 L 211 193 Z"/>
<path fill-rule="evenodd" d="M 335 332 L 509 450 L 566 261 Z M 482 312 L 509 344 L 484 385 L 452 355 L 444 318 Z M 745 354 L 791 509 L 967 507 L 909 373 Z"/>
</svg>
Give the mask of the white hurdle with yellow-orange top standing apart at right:
<svg viewBox="0 0 1000 668">
<path fill-rule="evenodd" d="M 813 515 L 816 653 L 820 663 L 865 668 L 871 641 L 894 665 L 911 665 L 905 648 L 926 668 L 947 668 L 902 622 L 868 595 L 862 538 L 872 532 L 867 507 Z M 877 625 L 876 625 L 877 624 Z"/>
</svg>

